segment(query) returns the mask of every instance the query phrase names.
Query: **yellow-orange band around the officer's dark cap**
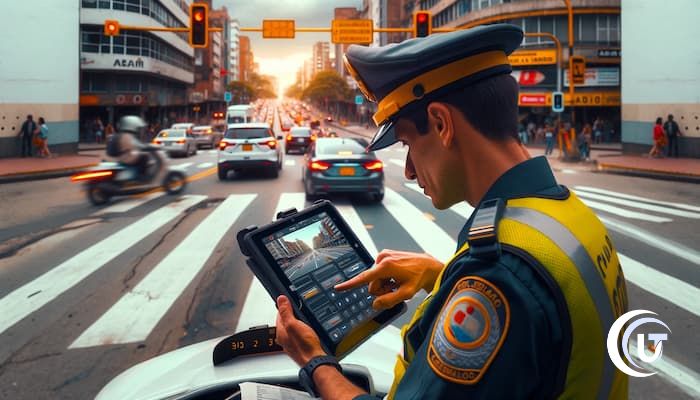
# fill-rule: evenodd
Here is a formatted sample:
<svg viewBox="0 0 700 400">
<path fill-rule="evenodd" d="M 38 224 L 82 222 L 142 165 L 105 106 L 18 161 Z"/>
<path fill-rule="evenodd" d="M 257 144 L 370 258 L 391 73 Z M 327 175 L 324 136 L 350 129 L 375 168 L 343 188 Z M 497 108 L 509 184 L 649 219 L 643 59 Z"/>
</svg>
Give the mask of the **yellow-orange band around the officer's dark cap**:
<svg viewBox="0 0 700 400">
<path fill-rule="evenodd" d="M 386 97 L 379 102 L 377 112 L 372 119 L 374 119 L 377 125 L 381 125 L 384 121 L 399 112 L 401 107 L 420 99 L 434 90 L 447 86 L 466 76 L 504 64 L 510 64 L 506 53 L 500 50 L 493 50 L 466 57 L 425 72 L 405 82 L 386 95 Z M 422 91 L 416 93 L 414 88 L 417 86 L 422 86 Z"/>
</svg>

